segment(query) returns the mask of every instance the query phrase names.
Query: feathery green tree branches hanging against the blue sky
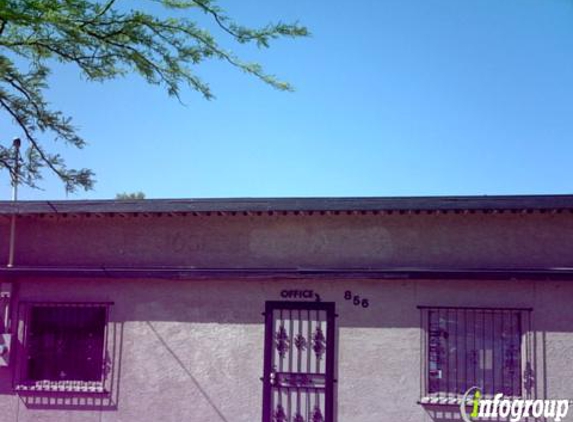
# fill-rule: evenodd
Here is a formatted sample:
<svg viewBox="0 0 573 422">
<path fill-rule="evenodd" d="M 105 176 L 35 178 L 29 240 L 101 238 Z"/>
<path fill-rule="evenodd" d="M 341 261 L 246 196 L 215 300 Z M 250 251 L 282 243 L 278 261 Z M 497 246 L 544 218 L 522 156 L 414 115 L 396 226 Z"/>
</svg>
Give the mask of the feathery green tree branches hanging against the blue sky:
<svg viewBox="0 0 573 422">
<path fill-rule="evenodd" d="M 279 37 L 308 35 L 297 23 L 273 23 L 262 28 L 240 25 L 214 0 L 138 0 L 138 5 L 160 6 L 160 17 L 145 8 L 122 9 L 121 0 L 2 0 L 0 1 L 0 110 L 21 132 L 26 151 L 16 165 L 9 147 L 0 144 L 0 168 L 37 186 L 45 169 L 54 172 L 67 191 L 91 189 L 90 169 L 71 169 L 63 157 L 49 151 L 46 140 L 60 140 L 77 148 L 86 141 L 71 119 L 53 109 L 45 98 L 54 61 L 79 68 L 91 81 L 105 81 L 129 73 L 162 86 L 179 98 L 188 86 L 210 99 L 213 94 L 195 70 L 203 61 L 227 62 L 264 83 L 290 90 L 288 83 L 264 72 L 257 63 L 241 60 L 220 45 L 220 37 L 239 44 L 267 48 Z M 171 13 L 169 13 L 171 12 Z M 203 29 L 200 13 L 218 28 Z M 184 16 L 184 17 L 181 17 Z M 191 19 L 195 16 L 195 19 Z M 2 136 L 6 136 L 4 133 Z"/>
</svg>

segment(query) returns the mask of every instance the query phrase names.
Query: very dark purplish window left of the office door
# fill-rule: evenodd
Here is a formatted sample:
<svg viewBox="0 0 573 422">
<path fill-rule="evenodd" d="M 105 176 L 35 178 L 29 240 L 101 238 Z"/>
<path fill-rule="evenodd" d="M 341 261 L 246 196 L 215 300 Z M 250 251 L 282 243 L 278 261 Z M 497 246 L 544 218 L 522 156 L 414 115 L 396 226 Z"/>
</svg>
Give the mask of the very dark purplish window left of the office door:
<svg viewBox="0 0 573 422">
<path fill-rule="evenodd" d="M 21 391 L 105 391 L 109 305 L 29 303 Z"/>
</svg>

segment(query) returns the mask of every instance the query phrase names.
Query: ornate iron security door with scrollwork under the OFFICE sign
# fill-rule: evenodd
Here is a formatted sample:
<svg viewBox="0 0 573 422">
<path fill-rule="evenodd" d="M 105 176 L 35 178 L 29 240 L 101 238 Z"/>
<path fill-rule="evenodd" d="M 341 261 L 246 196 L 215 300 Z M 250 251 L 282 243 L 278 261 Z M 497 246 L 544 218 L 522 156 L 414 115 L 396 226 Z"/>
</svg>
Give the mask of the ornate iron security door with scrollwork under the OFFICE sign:
<svg viewBox="0 0 573 422">
<path fill-rule="evenodd" d="M 334 303 L 267 302 L 263 422 L 333 422 Z"/>
</svg>

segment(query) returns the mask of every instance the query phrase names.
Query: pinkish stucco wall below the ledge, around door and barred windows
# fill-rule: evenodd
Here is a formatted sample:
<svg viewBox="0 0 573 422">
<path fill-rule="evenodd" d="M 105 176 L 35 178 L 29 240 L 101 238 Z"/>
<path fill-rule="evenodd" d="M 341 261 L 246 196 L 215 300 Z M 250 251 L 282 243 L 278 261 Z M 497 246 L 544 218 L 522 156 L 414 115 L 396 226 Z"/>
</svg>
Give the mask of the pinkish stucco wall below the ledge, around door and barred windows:
<svg viewBox="0 0 573 422">
<path fill-rule="evenodd" d="M 418 405 L 419 304 L 533 307 L 539 397 L 573 398 L 573 285 L 545 281 L 22 280 L 29 300 L 113 300 L 122 332 L 114 405 L 27 406 L 0 369 L 2 421 L 260 420 L 266 300 L 312 288 L 336 302 L 338 421 L 441 420 Z M 370 301 L 344 300 L 352 289 Z M 490 292 L 495 292 L 491 294 Z M 456 415 L 456 408 L 440 408 Z M 569 419 L 571 420 L 571 419 Z"/>
</svg>

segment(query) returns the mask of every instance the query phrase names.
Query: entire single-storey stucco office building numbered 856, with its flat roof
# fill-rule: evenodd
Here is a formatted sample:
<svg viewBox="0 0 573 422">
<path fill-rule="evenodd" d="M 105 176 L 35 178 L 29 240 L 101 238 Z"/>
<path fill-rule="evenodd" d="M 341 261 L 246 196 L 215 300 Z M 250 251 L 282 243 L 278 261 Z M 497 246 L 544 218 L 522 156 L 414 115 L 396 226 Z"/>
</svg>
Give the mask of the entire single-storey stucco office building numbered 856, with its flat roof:
<svg viewBox="0 0 573 422">
<path fill-rule="evenodd" d="M 2 422 L 573 399 L 573 196 L 2 202 L 0 259 Z"/>
</svg>

